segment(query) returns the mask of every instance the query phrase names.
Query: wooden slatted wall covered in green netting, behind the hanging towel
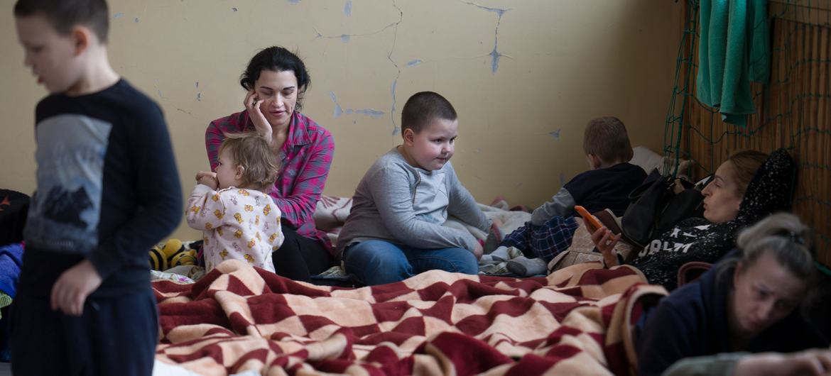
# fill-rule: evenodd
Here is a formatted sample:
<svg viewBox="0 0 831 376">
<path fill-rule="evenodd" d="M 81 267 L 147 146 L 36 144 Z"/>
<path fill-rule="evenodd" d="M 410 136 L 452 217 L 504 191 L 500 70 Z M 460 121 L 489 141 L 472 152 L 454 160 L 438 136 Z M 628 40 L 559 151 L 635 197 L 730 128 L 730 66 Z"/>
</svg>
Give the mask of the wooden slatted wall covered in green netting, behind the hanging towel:
<svg viewBox="0 0 831 376">
<path fill-rule="evenodd" d="M 692 160 L 686 173 L 701 177 L 738 149 L 789 149 L 799 167 L 794 212 L 814 228 L 818 261 L 831 266 L 831 0 L 765 3 L 770 79 L 750 85 L 755 114 L 745 125 L 726 124 L 720 109 L 696 98 L 700 5 L 685 4 L 664 154 L 676 165 Z"/>
</svg>

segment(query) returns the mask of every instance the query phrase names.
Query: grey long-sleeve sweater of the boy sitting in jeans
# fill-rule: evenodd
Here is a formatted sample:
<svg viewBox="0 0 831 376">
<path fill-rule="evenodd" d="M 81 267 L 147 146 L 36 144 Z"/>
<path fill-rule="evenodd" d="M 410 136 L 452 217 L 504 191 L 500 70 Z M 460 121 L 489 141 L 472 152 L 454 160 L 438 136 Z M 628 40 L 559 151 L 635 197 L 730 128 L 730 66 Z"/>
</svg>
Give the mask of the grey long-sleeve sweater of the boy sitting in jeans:
<svg viewBox="0 0 831 376">
<path fill-rule="evenodd" d="M 407 164 L 393 148 L 366 171 L 337 239 L 337 255 L 353 242 L 384 240 L 416 248 L 472 251 L 470 232 L 442 226 L 451 215 L 487 231 L 488 219 L 459 182 L 453 166 L 427 171 Z"/>
</svg>

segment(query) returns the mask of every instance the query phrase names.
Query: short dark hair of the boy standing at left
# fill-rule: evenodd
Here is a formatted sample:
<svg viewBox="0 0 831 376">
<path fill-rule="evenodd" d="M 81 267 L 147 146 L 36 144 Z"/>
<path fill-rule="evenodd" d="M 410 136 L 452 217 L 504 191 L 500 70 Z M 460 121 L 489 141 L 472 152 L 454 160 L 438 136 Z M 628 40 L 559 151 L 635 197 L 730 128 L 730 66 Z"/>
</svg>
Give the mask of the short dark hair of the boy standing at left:
<svg viewBox="0 0 831 376">
<path fill-rule="evenodd" d="M 15 17 L 43 16 L 61 36 L 72 27 L 89 27 L 101 43 L 110 30 L 110 13 L 105 0 L 17 0 Z"/>
</svg>

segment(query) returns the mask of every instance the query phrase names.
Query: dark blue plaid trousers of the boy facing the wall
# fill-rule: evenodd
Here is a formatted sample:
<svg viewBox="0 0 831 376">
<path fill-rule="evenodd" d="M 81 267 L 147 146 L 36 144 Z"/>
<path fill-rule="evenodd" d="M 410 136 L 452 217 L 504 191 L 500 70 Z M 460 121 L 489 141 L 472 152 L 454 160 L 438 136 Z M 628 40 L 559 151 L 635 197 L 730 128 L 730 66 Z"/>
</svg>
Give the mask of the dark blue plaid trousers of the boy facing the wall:
<svg viewBox="0 0 831 376">
<path fill-rule="evenodd" d="M 548 262 L 571 246 L 577 227 L 574 217 L 552 217 L 542 226 L 525 222 L 523 227 L 509 233 L 499 246 L 515 247 L 528 258 L 542 258 Z"/>
</svg>

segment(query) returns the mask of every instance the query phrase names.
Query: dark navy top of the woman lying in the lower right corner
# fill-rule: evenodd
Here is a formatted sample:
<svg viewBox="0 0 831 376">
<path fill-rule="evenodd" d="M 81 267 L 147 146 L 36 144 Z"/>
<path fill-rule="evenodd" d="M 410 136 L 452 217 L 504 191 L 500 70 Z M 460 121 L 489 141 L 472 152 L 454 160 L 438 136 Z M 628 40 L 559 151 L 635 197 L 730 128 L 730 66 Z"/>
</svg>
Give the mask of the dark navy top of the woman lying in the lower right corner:
<svg viewBox="0 0 831 376">
<path fill-rule="evenodd" d="M 684 358 L 737 350 L 787 353 L 828 347 L 828 340 L 794 310 L 759 334 L 747 349 L 731 349 L 727 304 L 733 271 L 716 265 L 661 300 L 637 338 L 638 374 L 660 375 Z"/>
</svg>

